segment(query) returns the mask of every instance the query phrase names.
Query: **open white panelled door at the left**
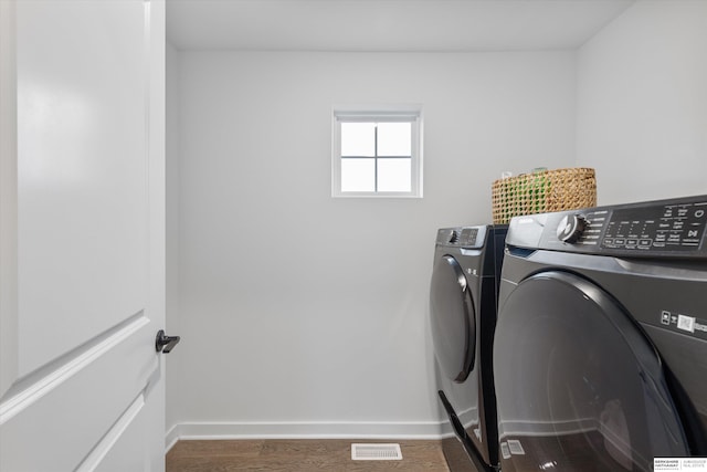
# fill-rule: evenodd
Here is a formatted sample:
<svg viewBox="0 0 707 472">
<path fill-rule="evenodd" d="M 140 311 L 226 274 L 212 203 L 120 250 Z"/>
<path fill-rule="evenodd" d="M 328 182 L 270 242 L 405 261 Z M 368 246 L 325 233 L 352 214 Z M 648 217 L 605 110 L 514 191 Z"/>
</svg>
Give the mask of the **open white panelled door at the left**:
<svg viewBox="0 0 707 472">
<path fill-rule="evenodd" d="M 163 0 L 0 21 L 0 471 L 163 470 Z"/>
</svg>

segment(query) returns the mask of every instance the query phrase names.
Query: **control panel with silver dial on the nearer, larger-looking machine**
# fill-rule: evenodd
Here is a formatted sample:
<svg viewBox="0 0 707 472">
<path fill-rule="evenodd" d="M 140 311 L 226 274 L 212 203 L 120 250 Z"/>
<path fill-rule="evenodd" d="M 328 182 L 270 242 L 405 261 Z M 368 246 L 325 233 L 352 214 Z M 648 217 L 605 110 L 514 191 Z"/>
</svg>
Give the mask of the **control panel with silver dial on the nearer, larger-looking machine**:
<svg viewBox="0 0 707 472">
<path fill-rule="evenodd" d="M 707 196 L 517 217 L 509 245 L 707 259 Z"/>
</svg>

